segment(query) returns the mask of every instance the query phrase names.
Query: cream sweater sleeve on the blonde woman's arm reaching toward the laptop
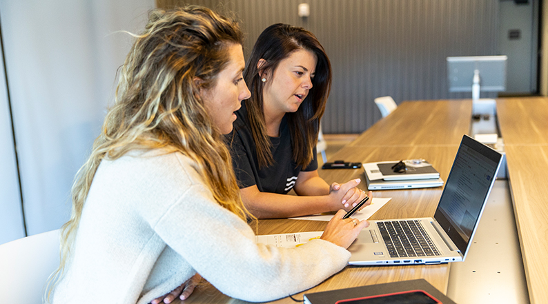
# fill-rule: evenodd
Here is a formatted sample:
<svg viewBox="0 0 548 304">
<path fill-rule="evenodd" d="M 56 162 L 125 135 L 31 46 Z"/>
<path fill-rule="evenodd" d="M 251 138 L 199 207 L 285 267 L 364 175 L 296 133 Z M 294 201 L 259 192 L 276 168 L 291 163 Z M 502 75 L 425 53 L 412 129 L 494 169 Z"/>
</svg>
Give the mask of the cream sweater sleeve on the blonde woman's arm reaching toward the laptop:
<svg viewBox="0 0 548 304">
<path fill-rule="evenodd" d="M 314 240 L 287 249 L 256 244 L 251 227 L 218 205 L 202 184 L 190 186 L 154 230 L 207 281 L 244 301 L 272 301 L 321 283 L 350 253 Z"/>
</svg>

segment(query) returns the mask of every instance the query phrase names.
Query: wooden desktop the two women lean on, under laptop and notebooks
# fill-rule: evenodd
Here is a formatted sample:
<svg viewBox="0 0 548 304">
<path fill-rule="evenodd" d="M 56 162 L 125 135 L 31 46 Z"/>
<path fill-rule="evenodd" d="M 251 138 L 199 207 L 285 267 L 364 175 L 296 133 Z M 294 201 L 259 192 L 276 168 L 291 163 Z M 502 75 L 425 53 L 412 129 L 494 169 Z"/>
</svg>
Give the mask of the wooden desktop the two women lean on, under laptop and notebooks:
<svg viewBox="0 0 548 304">
<path fill-rule="evenodd" d="M 458 150 L 462 134 L 469 132 L 471 101 L 413 101 L 402 103 L 389 116 L 375 123 L 355 141 L 342 148 L 332 159 L 353 162 L 392 161 L 422 157 L 433 164 L 444 181 Z M 357 170 L 320 170 L 327 183 L 360 178 L 358 186 L 366 189 L 364 173 Z M 377 191 L 375 196 L 391 197 L 372 219 L 402 219 L 433 216 L 442 188 Z M 323 230 L 326 222 L 288 219 L 261 220 L 259 234 Z M 447 292 L 449 264 L 382 267 L 346 267 L 306 292 L 320 292 L 346 287 L 373 285 L 414 278 L 424 278 L 442 292 Z M 302 299 L 302 292 L 295 298 Z M 177 300 L 178 301 L 178 300 Z M 175 303 L 178 303 L 175 301 Z M 228 298 L 211 285 L 203 285 L 185 303 L 244 303 Z M 294 303 L 282 298 L 273 303 Z"/>
</svg>

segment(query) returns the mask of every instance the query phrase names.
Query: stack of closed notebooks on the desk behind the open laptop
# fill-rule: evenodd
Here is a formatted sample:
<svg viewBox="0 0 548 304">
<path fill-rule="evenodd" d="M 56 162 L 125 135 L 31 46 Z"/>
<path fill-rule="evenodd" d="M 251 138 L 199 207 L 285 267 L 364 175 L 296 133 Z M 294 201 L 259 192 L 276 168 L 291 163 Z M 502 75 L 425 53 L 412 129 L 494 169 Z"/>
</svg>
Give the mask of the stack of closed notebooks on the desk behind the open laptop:
<svg viewBox="0 0 548 304">
<path fill-rule="evenodd" d="M 443 185 L 440 172 L 424 159 L 364 163 L 369 190 L 432 188 Z"/>
</svg>

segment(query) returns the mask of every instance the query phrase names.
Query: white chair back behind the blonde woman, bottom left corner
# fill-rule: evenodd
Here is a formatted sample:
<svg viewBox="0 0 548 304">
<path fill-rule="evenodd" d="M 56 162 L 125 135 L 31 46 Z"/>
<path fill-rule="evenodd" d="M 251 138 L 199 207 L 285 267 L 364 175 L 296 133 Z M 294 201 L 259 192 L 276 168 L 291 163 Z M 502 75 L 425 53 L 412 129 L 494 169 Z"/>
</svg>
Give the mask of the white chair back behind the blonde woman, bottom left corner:
<svg viewBox="0 0 548 304">
<path fill-rule="evenodd" d="M 0 303 L 42 303 L 48 277 L 59 267 L 59 230 L 0 245 Z"/>
</svg>

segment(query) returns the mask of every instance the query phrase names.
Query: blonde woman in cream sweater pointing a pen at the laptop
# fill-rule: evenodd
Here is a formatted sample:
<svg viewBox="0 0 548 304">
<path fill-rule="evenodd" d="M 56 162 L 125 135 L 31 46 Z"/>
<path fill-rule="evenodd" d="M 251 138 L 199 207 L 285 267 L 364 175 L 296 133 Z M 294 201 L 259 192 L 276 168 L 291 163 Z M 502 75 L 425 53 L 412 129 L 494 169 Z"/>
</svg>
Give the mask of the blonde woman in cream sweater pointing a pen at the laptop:
<svg viewBox="0 0 548 304">
<path fill-rule="evenodd" d="M 250 95 L 243 70 L 233 21 L 199 7 L 150 14 L 73 186 L 52 303 L 149 303 L 197 272 L 228 296 L 270 301 L 346 265 L 368 223 L 342 211 L 301 247 L 255 244 L 222 141 Z"/>
</svg>

